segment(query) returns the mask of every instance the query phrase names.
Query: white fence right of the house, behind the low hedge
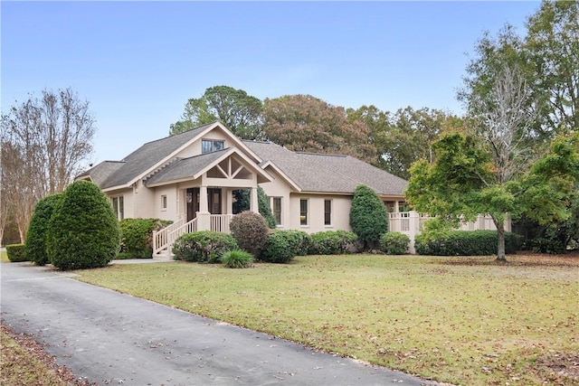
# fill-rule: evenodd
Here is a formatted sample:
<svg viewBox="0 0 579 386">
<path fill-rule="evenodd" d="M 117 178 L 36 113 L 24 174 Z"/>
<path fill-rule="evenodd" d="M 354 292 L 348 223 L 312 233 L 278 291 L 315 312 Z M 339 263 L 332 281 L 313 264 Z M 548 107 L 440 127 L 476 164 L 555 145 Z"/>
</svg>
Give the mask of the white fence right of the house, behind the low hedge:
<svg viewBox="0 0 579 386">
<path fill-rule="evenodd" d="M 424 229 L 424 222 L 429 221 L 432 217 L 422 215 L 419 212 L 392 212 L 388 213 L 390 231 L 404 233 L 410 238 L 410 253 L 416 253 L 414 249 L 414 237 Z M 479 215 L 477 220 L 460 223 L 459 231 L 496 231 L 497 227 L 490 216 Z M 505 230 L 510 231 L 510 221 L 507 221 Z"/>
</svg>

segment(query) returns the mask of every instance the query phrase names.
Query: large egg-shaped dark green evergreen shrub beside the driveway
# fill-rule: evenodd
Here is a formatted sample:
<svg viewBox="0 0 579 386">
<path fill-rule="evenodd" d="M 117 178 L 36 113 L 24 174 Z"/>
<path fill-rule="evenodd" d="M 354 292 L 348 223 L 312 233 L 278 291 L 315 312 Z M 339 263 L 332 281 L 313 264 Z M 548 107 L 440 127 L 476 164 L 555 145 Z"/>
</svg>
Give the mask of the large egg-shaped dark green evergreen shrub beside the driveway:
<svg viewBox="0 0 579 386">
<path fill-rule="evenodd" d="M 119 221 L 96 184 L 76 181 L 52 213 L 47 252 L 59 269 L 97 268 L 119 253 Z"/>
</svg>

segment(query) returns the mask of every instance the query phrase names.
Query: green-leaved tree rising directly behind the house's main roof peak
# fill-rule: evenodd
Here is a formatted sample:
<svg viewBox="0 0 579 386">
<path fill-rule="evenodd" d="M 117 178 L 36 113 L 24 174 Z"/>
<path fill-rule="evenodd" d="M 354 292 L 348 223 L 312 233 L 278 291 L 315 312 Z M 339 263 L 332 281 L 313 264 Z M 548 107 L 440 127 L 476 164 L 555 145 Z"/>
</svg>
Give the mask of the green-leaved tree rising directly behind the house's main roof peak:
<svg viewBox="0 0 579 386">
<path fill-rule="evenodd" d="M 262 109 L 261 100 L 242 89 L 214 86 L 205 89 L 201 98 L 187 101 L 181 120 L 171 125 L 169 134 L 174 136 L 219 119 L 237 137 L 261 139 Z"/>
</svg>

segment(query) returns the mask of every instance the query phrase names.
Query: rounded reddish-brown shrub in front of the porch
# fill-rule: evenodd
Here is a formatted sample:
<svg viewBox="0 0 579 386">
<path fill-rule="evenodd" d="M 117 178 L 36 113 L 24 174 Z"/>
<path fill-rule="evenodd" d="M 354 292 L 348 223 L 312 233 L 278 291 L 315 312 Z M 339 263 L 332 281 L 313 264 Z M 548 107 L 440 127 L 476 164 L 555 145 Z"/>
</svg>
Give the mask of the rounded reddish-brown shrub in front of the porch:
<svg viewBox="0 0 579 386">
<path fill-rule="evenodd" d="M 270 228 L 260 213 L 246 211 L 233 216 L 230 229 L 241 249 L 253 256 L 261 255 L 261 249 L 268 240 Z"/>
</svg>

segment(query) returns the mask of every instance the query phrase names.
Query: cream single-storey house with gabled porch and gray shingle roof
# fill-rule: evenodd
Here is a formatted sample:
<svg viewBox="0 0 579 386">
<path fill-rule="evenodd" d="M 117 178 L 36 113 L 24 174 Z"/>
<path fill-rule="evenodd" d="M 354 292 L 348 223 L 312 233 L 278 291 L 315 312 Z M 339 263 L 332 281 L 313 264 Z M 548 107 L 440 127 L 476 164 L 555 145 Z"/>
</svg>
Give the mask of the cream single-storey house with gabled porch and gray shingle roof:
<svg viewBox="0 0 579 386">
<path fill-rule="evenodd" d="M 257 188 L 270 197 L 280 229 L 349 231 L 356 186 L 365 184 L 399 212 L 406 181 L 352 156 L 296 153 L 271 142 L 235 137 L 222 123 L 197 127 L 140 146 L 121 161 L 104 161 L 77 180 L 100 186 L 119 220 L 174 221 L 157 232 L 154 253 L 170 250 L 189 231 L 229 231 L 233 191 Z"/>
</svg>

